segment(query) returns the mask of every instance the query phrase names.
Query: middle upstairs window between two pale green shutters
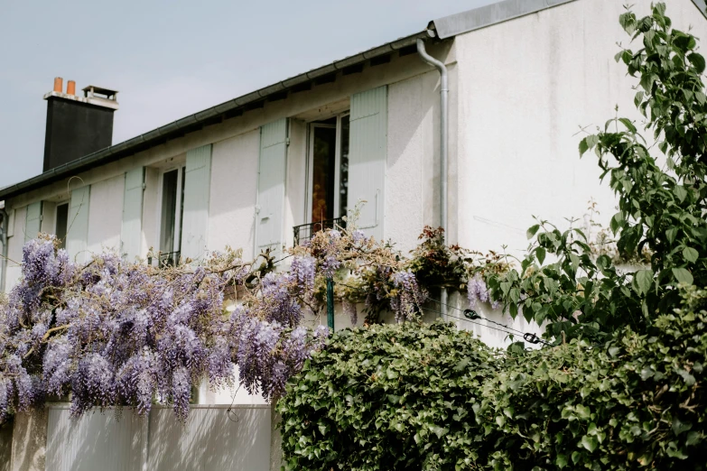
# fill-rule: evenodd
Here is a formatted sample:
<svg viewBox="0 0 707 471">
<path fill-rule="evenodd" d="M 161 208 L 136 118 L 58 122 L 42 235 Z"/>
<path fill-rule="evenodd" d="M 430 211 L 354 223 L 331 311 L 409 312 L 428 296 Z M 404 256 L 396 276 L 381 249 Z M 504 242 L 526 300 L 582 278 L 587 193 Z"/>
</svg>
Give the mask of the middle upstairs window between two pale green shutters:
<svg viewBox="0 0 707 471">
<path fill-rule="evenodd" d="M 184 173 L 184 167 L 163 173 L 160 264 L 172 265 L 179 261 L 181 217 L 184 212 Z"/>
</svg>

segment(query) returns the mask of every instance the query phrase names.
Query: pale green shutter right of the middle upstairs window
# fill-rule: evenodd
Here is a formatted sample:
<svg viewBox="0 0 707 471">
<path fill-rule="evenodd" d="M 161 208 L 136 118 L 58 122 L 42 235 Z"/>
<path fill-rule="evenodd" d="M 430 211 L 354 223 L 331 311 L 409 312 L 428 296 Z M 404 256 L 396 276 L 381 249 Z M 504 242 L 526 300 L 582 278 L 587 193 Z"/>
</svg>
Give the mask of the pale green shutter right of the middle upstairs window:
<svg viewBox="0 0 707 471">
<path fill-rule="evenodd" d="M 198 260 L 206 253 L 210 183 L 211 144 L 207 144 L 187 152 L 181 226 L 181 257 L 184 259 Z"/>
</svg>

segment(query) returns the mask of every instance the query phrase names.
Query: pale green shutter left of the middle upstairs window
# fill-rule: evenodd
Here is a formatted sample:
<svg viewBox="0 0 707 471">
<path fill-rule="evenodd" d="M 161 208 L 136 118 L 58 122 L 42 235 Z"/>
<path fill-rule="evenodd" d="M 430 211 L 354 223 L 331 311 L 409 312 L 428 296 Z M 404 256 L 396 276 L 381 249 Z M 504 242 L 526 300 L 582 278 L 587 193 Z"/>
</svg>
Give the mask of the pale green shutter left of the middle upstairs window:
<svg viewBox="0 0 707 471">
<path fill-rule="evenodd" d="M 120 231 L 120 252 L 128 261 L 140 256 L 143 240 L 143 186 L 144 167 L 126 171 L 126 189 L 123 195 L 123 226 Z"/>
</svg>

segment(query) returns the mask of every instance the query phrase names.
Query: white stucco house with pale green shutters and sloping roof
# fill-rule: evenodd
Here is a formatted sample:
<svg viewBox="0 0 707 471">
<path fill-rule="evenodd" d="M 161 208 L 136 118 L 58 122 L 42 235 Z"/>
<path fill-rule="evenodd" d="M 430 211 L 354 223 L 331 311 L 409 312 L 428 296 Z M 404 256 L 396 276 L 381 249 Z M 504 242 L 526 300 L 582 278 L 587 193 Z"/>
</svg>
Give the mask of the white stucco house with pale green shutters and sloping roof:
<svg viewBox="0 0 707 471">
<path fill-rule="evenodd" d="M 648 14 L 648 0 L 634 3 Z M 519 255 L 534 215 L 562 223 L 595 199 L 610 217 L 613 196 L 577 149 L 581 128 L 603 125 L 616 106 L 640 121 L 637 79 L 614 60 L 617 42 L 629 42 L 623 12 L 619 0 L 505 0 L 441 18 L 0 189 L 3 288 L 40 231 L 65 237 L 78 260 L 103 248 L 199 259 L 226 245 L 249 259 L 293 245 L 295 227 L 340 218 L 361 199 L 358 225 L 407 252 L 442 214 L 440 73 L 418 40 L 449 73 L 449 242 Z M 703 41 L 704 12 L 703 0 L 667 2 L 674 27 Z"/>
</svg>

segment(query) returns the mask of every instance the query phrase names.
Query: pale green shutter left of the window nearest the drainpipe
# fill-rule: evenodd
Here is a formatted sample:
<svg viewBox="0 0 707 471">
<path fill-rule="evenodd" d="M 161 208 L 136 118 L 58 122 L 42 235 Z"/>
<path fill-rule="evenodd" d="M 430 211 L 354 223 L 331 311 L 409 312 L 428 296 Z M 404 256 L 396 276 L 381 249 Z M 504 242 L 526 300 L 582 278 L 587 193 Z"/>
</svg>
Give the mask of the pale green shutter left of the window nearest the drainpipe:
<svg viewBox="0 0 707 471">
<path fill-rule="evenodd" d="M 287 118 L 260 128 L 256 208 L 256 254 L 283 245 Z"/>
</svg>

